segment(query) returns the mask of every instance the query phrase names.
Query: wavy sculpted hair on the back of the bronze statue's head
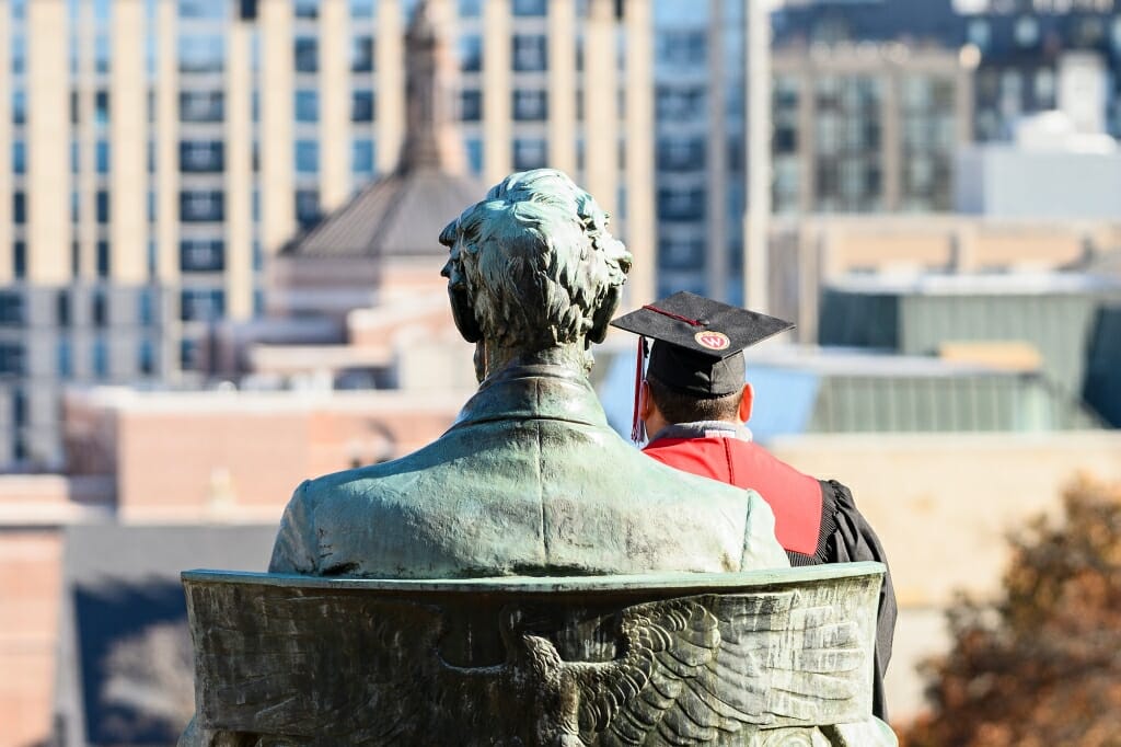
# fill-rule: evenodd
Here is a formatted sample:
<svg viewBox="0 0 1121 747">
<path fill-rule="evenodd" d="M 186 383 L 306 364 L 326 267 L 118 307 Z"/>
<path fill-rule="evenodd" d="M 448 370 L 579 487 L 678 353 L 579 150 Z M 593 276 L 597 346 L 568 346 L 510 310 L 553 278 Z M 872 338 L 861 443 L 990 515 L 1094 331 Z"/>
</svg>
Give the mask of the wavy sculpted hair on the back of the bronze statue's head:
<svg viewBox="0 0 1121 747">
<path fill-rule="evenodd" d="M 448 286 L 466 292 L 489 342 L 529 350 L 576 342 L 630 269 L 630 252 L 606 224 L 564 173 L 511 174 L 441 233 L 451 248 Z"/>
</svg>

